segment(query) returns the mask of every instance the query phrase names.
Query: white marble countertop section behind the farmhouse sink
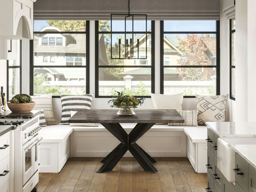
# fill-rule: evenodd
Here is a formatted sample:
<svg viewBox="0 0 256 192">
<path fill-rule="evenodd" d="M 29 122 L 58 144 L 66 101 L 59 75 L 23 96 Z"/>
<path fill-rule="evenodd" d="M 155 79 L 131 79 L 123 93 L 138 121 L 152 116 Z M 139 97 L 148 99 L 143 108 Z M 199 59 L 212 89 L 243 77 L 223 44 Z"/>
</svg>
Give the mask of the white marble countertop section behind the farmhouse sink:
<svg viewBox="0 0 256 192">
<path fill-rule="evenodd" d="M 219 137 L 256 137 L 255 122 L 206 122 Z"/>
</svg>

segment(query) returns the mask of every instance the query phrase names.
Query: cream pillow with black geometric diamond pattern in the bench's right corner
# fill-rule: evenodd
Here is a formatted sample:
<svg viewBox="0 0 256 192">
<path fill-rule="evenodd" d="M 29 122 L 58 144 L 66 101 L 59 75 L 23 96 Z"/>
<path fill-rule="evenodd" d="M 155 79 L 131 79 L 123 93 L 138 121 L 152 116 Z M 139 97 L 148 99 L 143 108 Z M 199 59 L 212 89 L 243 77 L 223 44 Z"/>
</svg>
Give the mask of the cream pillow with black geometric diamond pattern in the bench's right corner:
<svg viewBox="0 0 256 192">
<path fill-rule="evenodd" d="M 196 94 L 197 124 L 205 125 L 205 122 L 224 122 L 227 100 L 228 94 L 216 96 Z"/>
</svg>

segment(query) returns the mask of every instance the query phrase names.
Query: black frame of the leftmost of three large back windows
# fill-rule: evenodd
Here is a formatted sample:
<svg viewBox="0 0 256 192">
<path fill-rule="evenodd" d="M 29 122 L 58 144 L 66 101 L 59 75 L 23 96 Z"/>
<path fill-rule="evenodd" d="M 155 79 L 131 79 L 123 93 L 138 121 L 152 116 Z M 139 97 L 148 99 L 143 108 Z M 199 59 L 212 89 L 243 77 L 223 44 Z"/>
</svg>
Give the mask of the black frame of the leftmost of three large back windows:
<svg viewBox="0 0 256 192">
<path fill-rule="evenodd" d="M 86 94 L 90 93 L 90 21 L 86 20 L 86 31 L 34 31 L 34 34 L 86 34 L 86 66 L 51 66 L 54 68 L 85 68 Z M 48 40 L 49 42 L 49 40 Z M 63 41 L 62 41 L 63 42 Z M 55 38 L 56 44 L 56 38 Z M 53 46 L 53 45 L 51 45 Z M 34 39 L 29 40 L 29 94 L 34 95 L 34 68 L 44 68 L 49 65 L 34 65 Z M 52 95 L 52 98 L 60 98 L 59 95 Z"/>
</svg>

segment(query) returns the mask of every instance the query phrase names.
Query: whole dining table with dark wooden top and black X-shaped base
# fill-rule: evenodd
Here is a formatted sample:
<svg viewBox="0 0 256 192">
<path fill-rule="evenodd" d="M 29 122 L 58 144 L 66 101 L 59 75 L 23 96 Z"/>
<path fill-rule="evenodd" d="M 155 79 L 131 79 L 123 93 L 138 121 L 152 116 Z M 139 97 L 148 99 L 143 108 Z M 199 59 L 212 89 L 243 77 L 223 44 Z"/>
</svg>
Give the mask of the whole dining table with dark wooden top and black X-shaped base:
<svg viewBox="0 0 256 192">
<path fill-rule="evenodd" d="M 136 141 L 156 123 L 184 123 L 184 119 L 175 109 L 137 109 L 134 112 L 135 115 L 117 115 L 115 109 L 89 109 L 76 112 L 68 120 L 69 123 L 100 123 L 120 141 L 120 144 L 101 160 L 103 165 L 97 173 L 112 171 L 127 151 L 131 152 L 145 171 L 158 172 L 153 165 L 156 161 Z M 128 134 L 121 123 L 137 124 Z"/>
</svg>

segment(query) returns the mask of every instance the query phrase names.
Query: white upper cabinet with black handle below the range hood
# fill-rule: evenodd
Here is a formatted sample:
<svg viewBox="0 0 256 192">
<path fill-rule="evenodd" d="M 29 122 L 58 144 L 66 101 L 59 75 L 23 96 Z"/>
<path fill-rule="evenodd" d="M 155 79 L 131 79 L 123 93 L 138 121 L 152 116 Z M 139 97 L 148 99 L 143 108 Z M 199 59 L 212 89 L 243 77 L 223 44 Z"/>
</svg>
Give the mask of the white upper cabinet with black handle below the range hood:
<svg viewBox="0 0 256 192">
<path fill-rule="evenodd" d="M 0 39 L 0 59 L 18 60 L 20 40 Z"/>
</svg>

